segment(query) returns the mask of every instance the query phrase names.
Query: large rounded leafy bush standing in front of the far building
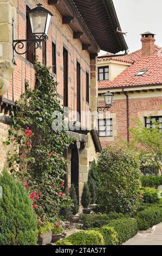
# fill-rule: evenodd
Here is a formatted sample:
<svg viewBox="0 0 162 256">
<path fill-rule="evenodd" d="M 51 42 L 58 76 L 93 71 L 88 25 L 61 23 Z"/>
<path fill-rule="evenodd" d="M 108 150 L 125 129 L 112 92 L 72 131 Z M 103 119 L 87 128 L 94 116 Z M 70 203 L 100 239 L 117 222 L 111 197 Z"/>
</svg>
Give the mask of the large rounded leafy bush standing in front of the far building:
<svg viewBox="0 0 162 256">
<path fill-rule="evenodd" d="M 134 155 L 128 150 L 108 147 L 99 156 L 98 173 L 100 209 L 133 215 L 140 199 L 140 170 Z"/>
</svg>

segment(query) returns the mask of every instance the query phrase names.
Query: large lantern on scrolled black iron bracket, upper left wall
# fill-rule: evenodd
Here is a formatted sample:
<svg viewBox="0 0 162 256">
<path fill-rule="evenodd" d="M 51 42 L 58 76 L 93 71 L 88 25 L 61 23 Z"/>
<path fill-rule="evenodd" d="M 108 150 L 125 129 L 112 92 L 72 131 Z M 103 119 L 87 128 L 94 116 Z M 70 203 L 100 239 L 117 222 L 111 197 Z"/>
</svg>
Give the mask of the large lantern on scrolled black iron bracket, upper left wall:
<svg viewBox="0 0 162 256">
<path fill-rule="evenodd" d="M 12 29 L 13 29 L 13 63 L 15 63 L 15 52 L 17 54 L 25 54 L 27 53 L 31 45 L 35 49 L 41 46 L 41 42 L 48 40 L 48 29 L 50 25 L 50 20 L 53 14 L 50 13 L 47 9 L 42 7 L 42 4 L 37 4 L 37 7 L 28 11 L 31 31 L 32 31 L 32 39 L 18 39 L 15 40 L 15 20 L 13 19 Z M 24 43 L 28 42 L 28 45 L 25 48 L 25 51 L 18 52 L 18 50 L 24 48 Z"/>
</svg>

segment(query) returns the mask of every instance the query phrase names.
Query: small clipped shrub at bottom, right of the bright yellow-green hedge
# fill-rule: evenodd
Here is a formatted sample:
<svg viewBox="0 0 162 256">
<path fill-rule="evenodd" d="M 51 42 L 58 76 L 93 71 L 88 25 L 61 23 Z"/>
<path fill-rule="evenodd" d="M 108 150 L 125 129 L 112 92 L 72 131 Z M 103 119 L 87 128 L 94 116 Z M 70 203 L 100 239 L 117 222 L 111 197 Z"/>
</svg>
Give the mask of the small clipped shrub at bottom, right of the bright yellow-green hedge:
<svg viewBox="0 0 162 256">
<path fill-rule="evenodd" d="M 118 233 L 114 228 L 105 225 L 101 228 L 95 228 L 94 230 L 102 234 L 105 245 L 119 245 Z"/>
</svg>

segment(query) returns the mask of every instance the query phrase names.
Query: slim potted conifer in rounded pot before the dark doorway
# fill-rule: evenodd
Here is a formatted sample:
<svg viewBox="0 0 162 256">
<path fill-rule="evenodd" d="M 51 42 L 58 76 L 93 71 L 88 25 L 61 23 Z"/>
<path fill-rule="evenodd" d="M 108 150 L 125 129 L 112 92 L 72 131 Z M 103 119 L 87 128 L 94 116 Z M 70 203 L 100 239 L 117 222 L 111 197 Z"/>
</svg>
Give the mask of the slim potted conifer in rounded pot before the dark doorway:
<svg viewBox="0 0 162 256">
<path fill-rule="evenodd" d="M 80 216 L 77 215 L 78 211 L 79 211 L 79 202 L 77 199 L 77 195 L 76 195 L 76 190 L 75 190 L 75 186 L 74 184 L 72 184 L 71 188 L 70 188 L 70 198 L 73 200 L 73 206 L 72 206 L 72 222 L 73 223 L 79 223 L 80 220 Z"/>
</svg>

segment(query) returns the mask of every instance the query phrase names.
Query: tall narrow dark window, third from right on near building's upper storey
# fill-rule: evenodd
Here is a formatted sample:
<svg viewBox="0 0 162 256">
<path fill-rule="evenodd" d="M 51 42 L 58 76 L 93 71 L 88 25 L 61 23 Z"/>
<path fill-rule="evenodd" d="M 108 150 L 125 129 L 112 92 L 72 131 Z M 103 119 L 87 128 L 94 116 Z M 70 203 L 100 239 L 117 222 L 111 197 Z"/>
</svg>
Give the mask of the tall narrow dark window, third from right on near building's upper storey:
<svg viewBox="0 0 162 256">
<path fill-rule="evenodd" d="M 63 47 L 63 106 L 68 107 L 68 51 Z"/>
</svg>

